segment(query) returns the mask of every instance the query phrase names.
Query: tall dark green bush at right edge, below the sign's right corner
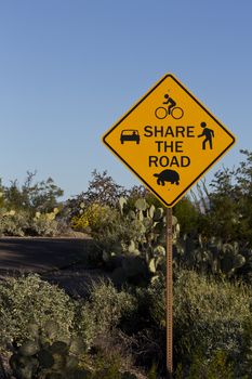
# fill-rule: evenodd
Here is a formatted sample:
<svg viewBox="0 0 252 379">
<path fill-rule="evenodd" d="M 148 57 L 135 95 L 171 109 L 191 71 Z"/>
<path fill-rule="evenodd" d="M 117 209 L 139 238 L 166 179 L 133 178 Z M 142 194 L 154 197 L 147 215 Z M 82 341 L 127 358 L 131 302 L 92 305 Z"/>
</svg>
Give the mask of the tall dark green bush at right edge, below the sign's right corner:
<svg viewBox="0 0 252 379">
<path fill-rule="evenodd" d="M 241 151 L 244 160 L 238 168 L 218 170 L 210 184 L 198 186 L 199 232 L 224 243 L 237 241 L 252 248 L 252 153 Z"/>
</svg>

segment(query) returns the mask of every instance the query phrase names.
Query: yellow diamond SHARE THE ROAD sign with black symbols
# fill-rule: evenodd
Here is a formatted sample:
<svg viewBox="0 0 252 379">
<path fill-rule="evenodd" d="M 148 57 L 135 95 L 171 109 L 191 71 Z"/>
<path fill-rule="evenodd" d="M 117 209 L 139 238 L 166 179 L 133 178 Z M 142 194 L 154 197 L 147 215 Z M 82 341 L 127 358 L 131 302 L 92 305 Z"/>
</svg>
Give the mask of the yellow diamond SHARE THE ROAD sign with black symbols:
<svg viewBox="0 0 252 379">
<path fill-rule="evenodd" d="M 235 136 L 173 75 L 165 75 L 103 138 L 173 207 L 235 143 Z"/>
</svg>

